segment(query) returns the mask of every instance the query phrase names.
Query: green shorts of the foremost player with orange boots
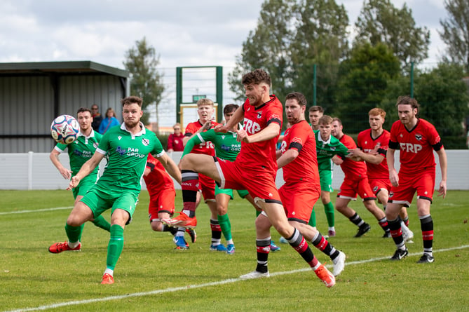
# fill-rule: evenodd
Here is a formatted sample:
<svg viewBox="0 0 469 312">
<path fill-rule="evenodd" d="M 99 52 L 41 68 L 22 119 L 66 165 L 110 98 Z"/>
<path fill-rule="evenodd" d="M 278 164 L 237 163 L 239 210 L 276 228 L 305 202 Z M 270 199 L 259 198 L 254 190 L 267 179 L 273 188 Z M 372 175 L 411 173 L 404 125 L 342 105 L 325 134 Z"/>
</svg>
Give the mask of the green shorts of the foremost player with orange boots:
<svg viewBox="0 0 469 312">
<path fill-rule="evenodd" d="M 116 209 L 122 209 L 128 212 L 129 219 L 127 223 L 132 222 L 132 215 L 135 212 L 135 207 L 138 203 L 138 194 L 135 191 L 101 191 L 97 187 L 92 187 L 88 193 L 81 198 L 81 202 L 85 203 L 91 211 L 93 216 L 97 217 L 102 212 L 111 208 L 111 215 Z"/>
</svg>

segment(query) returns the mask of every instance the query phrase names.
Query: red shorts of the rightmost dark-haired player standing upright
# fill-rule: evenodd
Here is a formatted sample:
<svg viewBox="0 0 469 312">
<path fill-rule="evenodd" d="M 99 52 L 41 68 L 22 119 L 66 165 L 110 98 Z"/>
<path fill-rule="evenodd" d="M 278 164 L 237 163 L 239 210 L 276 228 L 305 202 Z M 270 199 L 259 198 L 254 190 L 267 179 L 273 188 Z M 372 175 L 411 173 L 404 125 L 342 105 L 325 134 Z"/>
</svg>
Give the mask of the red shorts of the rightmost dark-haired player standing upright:
<svg viewBox="0 0 469 312">
<path fill-rule="evenodd" d="M 417 192 L 417 198 L 428 199 L 431 203 L 434 191 L 435 168 L 412 176 L 401 175 L 399 172 L 399 186 L 391 187 L 388 203 L 397 203 L 410 207 L 415 192 Z"/>
</svg>

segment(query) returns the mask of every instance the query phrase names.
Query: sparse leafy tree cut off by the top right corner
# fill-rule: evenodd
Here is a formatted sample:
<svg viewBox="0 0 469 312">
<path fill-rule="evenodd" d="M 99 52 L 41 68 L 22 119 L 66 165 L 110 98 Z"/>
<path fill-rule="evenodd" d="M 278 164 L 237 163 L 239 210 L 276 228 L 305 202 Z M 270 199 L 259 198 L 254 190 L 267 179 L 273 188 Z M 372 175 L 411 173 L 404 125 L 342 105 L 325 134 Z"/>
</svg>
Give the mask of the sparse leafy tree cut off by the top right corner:
<svg viewBox="0 0 469 312">
<path fill-rule="evenodd" d="M 447 44 L 451 61 L 464 65 L 469 72 L 469 0 L 444 0 L 444 8 L 449 18 L 440 20 L 443 31 L 438 34 Z"/>
</svg>

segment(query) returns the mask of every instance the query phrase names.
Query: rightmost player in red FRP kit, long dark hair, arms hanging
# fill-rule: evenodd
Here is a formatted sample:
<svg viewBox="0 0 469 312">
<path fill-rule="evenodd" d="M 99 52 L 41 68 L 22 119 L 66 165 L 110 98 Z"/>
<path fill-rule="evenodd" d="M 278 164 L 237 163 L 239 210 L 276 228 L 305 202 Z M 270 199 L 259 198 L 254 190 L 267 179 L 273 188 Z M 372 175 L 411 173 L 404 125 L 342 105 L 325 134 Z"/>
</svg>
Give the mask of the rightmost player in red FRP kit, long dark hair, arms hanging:
<svg viewBox="0 0 469 312">
<path fill-rule="evenodd" d="M 433 257 L 433 219 L 430 215 L 433 191 L 435 191 L 435 150 L 440 160 L 442 180 L 438 196 L 446 197 L 447 156 L 435 126 L 418 117 L 420 104 L 412 97 L 397 99 L 399 120 L 393 123 L 387 153 L 389 179 L 393 187 L 389 195 L 386 217 L 391 236 L 397 247 L 392 260 L 400 260 L 408 255 L 399 222 L 402 206 L 409 207 L 417 192 L 417 214 L 419 215 L 423 255 L 418 263 L 431 263 Z M 394 167 L 394 152 L 400 150 L 399 174 Z"/>
</svg>

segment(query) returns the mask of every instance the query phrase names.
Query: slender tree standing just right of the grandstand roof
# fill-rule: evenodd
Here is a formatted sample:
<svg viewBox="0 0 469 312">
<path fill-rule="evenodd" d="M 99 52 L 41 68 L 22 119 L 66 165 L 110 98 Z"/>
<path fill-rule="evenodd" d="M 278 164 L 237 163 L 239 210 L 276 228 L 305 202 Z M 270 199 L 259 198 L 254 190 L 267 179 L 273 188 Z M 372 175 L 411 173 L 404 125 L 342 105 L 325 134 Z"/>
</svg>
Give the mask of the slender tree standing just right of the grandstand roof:
<svg viewBox="0 0 469 312">
<path fill-rule="evenodd" d="M 135 47 L 125 53 L 125 62 L 123 62 L 125 69 L 130 72 L 130 92 L 143 99 L 142 122 L 145 124 L 149 119 L 149 113 L 145 109 L 152 104 L 156 106 L 156 123 L 158 123 L 158 104 L 165 89 L 162 75 L 156 70 L 159 58 L 159 55 L 156 56 L 155 48 L 149 46 L 144 37 L 141 41 L 135 41 Z"/>
</svg>

